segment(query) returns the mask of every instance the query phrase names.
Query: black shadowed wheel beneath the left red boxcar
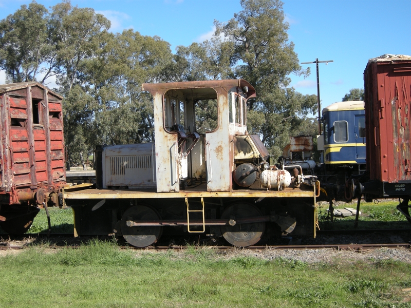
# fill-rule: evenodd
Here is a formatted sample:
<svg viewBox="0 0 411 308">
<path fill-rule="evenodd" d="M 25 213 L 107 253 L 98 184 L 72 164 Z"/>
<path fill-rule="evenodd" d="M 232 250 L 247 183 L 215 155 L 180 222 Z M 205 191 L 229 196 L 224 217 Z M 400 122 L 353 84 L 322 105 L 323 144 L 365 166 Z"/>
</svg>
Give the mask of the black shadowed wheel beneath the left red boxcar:
<svg viewBox="0 0 411 308">
<path fill-rule="evenodd" d="M 12 205 L 3 205 L 0 216 L 5 217 L 6 221 L 0 221 L 0 227 L 10 235 L 24 234 L 33 224 L 34 217 L 39 211 L 40 209 L 36 207 L 22 209 Z"/>
</svg>

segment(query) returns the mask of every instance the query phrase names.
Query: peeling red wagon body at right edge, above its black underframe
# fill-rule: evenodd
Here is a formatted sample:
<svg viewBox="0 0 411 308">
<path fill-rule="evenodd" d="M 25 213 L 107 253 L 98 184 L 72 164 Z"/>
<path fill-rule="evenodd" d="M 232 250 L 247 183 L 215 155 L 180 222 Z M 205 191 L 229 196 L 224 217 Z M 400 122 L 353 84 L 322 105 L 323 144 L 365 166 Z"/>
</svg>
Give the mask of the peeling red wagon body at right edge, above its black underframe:
<svg viewBox="0 0 411 308">
<path fill-rule="evenodd" d="M 364 81 L 370 178 L 411 181 L 411 57 L 370 60 Z"/>
</svg>

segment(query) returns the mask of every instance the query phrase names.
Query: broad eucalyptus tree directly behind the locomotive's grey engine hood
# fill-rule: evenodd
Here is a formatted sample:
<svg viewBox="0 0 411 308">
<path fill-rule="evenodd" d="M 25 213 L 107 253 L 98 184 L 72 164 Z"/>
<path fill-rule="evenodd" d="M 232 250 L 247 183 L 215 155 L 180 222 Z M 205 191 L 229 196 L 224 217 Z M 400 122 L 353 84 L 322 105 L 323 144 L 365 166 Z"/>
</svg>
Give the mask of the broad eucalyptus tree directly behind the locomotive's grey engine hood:
<svg viewBox="0 0 411 308">
<path fill-rule="evenodd" d="M 99 102 L 96 142 L 124 144 L 154 141 L 152 99 L 144 82 L 168 81 L 170 44 L 131 29 L 106 36 L 105 45 L 85 62 L 90 93 Z"/>
</svg>

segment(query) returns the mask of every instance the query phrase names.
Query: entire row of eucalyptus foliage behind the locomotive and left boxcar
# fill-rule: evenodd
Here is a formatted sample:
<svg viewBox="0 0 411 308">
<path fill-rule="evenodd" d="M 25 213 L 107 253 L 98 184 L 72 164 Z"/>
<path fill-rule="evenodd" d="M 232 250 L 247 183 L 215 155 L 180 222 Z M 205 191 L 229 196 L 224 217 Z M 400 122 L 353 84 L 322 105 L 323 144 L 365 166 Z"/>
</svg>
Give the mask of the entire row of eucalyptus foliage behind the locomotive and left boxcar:
<svg viewBox="0 0 411 308">
<path fill-rule="evenodd" d="M 90 8 L 64 0 L 48 11 L 32 2 L 0 21 L 0 69 L 8 81 L 55 76 L 64 95 L 65 142 L 72 159 L 98 144 L 154 141 L 151 95 L 144 82 L 245 79 L 257 97 L 249 100 L 248 129 L 270 153 L 281 155 L 289 136 L 315 134 L 315 95 L 290 87 L 290 75 L 308 75 L 289 42 L 279 0 L 240 0 L 242 10 L 215 21 L 213 37 L 178 46 L 128 29 L 110 33 L 110 22 Z M 207 131 L 217 108 L 198 102 L 196 121 Z M 314 128 L 313 128 L 314 127 Z"/>
</svg>

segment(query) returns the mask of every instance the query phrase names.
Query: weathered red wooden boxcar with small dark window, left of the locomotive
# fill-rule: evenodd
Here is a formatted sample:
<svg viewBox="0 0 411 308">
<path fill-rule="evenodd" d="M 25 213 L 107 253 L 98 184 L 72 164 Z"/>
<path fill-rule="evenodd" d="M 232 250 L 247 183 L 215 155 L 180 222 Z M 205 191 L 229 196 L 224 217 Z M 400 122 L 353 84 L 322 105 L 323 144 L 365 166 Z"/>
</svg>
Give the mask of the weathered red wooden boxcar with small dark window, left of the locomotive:
<svg viewBox="0 0 411 308">
<path fill-rule="evenodd" d="M 24 233 L 65 184 L 63 98 L 38 82 L 0 85 L 0 226 Z"/>
</svg>

